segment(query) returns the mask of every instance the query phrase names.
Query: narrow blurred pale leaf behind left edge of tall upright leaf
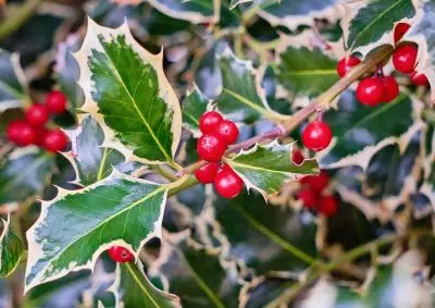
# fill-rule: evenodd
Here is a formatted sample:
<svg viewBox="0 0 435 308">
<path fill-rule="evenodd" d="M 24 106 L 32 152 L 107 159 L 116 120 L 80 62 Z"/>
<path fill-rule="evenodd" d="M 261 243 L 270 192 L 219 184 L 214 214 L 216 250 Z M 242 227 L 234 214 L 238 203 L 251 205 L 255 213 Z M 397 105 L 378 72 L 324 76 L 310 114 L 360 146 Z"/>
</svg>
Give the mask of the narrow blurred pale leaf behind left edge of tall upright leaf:
<svg viewBox="0 0 435 308">
<path fill-rule="evenodd" d="M 69 109 L 72 112 L 75 112 L 85 102 L 83 90 L 77 85 L 79 76 L 78 64 L 72 53 L 79 49 L 82 42 L 83 39 L 78 34 L 72 34 L 65 41 L 61 42 L 54 66 L 55 78 L 61 90 L 69 99 Z"/>
</svg>

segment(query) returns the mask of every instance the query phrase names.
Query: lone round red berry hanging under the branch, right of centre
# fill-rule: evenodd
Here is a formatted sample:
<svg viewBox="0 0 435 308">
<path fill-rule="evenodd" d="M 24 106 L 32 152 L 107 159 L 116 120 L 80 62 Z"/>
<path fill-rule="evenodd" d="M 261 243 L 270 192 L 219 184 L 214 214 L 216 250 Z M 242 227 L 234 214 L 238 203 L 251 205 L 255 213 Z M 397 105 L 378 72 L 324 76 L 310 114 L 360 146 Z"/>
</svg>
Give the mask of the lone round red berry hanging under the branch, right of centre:
<svg viewBox="0 0 435 308">
<path fill-rule="evenodd" d="M 333 132 L 325 122 L 314 121 L 309 123 L 302 132 L 302 144 L 313 150 L 325 149 L 333 138 Z"/>
</svg>

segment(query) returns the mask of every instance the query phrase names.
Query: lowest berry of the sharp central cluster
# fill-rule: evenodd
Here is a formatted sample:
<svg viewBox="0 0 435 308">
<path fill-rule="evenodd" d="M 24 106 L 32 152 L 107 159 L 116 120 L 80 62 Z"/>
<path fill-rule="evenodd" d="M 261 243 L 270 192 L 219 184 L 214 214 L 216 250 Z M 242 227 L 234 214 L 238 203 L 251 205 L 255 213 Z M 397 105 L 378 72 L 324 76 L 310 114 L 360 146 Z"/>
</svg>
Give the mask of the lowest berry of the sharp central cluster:
<svg viewBox="0 0 435 308">
<path fill-rule="evenodd" d="M 214 189 L 224 198 L 237 197 L 243 188 L 244 181 L 228 165 L 224 165 L 214 178 Z"/>
</svg>

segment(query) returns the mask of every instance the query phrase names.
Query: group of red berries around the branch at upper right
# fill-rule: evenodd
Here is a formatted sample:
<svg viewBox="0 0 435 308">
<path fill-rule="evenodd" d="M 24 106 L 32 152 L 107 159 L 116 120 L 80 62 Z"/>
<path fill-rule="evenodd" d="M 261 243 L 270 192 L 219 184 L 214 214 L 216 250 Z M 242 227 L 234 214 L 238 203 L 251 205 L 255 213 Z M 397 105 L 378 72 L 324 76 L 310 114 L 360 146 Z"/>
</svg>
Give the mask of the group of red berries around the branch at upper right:
<svg viewBox="0 0 435 308">
<path fill-rule="evenodd" d="M 394 32 L 394 39 L 397 44 L 410 28 L 409 24 L 399 23 Z M 402 44 L 393 53 L 393 64 L 396 71 L 402 74 L 410 74 L 412 84 L 427 85 L 424 74 L 414 71 L 418 54 L 418 47 L 413 44 Z M 361 63 L 355 56 L 346 57 L 338 61 L 337 73 L 344 77 L 353 66 Z M 382 69 L 380 73 L 363 78 L 357 87 L 357 98 L 365 106 L 375 107 L 382 102 L 390 102 L 399 95 L 399 85 L 394 76 L 384 76 Z"/>
</svg>

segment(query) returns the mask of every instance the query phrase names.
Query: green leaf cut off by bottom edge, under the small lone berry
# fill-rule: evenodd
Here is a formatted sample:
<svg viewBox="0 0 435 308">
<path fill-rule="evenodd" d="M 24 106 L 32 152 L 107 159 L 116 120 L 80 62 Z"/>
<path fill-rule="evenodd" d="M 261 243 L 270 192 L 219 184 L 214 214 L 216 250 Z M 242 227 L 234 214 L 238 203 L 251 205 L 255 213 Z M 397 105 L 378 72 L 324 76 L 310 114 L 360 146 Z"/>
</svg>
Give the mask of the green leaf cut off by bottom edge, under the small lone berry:
<svg viewBox="0 0 435 308">
<path fill-rule="evenodd" d="M 122 294 L 123 307 L 182 307 L 178 296 L 152 285 L 140 263 L 117 264 L 116 274 L 115 285 Z"/>
</svg>

